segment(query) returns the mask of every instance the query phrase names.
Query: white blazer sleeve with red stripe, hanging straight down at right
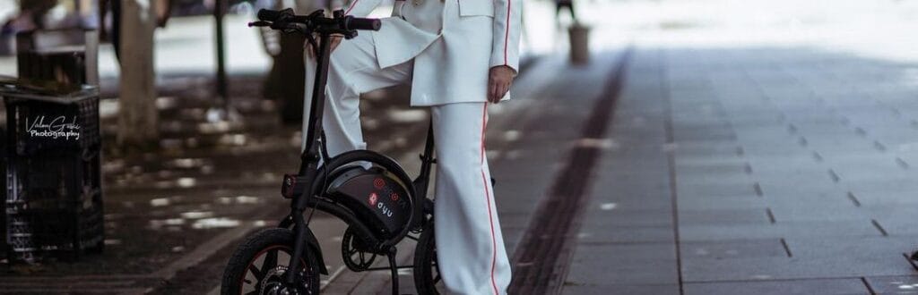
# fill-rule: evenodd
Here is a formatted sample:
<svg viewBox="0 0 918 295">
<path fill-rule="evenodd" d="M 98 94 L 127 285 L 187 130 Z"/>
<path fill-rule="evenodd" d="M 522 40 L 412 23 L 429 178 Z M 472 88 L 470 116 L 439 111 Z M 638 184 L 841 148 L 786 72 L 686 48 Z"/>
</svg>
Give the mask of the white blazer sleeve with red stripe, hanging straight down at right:
<svg viewBox="0 0 918 295">
<path fill-rule="evenodd" d="M 366 1 L 366 0 L 357 0 Z M 522 29 L 521 0 L 494 1 L 494 42 L 491 67 L 506 65 L 517 71 L 520 67 L 520 33 Z"/>
</svg>

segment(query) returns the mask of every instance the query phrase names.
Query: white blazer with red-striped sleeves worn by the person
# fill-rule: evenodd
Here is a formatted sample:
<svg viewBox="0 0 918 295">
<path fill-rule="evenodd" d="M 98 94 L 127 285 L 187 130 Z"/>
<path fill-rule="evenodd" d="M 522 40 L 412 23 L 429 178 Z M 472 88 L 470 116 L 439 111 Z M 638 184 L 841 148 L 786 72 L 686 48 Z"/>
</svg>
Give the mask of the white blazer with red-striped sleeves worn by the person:
<svg viewBox="0 0 918 295">
<path fill-rule="evenodd" d="M 353 0 L 345 12 L 367 16 L 379 2 Z M 411 105 L 480 103 L 491 67 L 519 68 L 521 8 L 521 0 L 398 0 L 379 31 L 360 33 L 373 35 L 380 68 L 414 59 Z"/>
</svg>

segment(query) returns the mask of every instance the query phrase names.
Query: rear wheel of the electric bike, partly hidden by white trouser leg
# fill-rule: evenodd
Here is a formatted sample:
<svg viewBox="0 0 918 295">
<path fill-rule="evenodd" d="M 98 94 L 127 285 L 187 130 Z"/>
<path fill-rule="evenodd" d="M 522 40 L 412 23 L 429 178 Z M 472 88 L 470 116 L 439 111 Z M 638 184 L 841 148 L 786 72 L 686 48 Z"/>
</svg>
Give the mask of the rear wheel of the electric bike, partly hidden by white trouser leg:
<svg viewBox="0 0 918 295">
<path fill-rule="evenodd" d="M 437 264 L 437 243 L 433 222 L 424 225 L 418 245 L 414 248 L 414 286 L 420 295 L 441 294 L 444 290 Z M 445 293 L 445 292 L 444 292 Z"/>
</svg>

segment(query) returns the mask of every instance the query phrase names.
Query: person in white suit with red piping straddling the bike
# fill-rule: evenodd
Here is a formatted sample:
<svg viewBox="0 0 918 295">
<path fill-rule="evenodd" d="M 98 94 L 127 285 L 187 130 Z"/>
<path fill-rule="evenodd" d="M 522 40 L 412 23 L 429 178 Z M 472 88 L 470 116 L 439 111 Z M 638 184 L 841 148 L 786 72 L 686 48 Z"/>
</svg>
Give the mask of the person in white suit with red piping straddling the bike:
<svg viewBox="0 0 918 295">
<path fill-rule="evenodd" d="M 380 1 L 352 0 L 345 14 L 367 16 Z M 509 99 L 517 74 L 521 2 L 398 0 L 382 23 L 340 46 L 340 38 L 332 40 L 337 48 L 324 110 L 329 152 L 366 147 L 360 93 L 410 82 L 411 105 L 431 107 L 437 141 L 434 224 L 445 287 L 453 294 L 505 294 L 510 266 L 484 140 L 487 104 Z"/>
</svg>

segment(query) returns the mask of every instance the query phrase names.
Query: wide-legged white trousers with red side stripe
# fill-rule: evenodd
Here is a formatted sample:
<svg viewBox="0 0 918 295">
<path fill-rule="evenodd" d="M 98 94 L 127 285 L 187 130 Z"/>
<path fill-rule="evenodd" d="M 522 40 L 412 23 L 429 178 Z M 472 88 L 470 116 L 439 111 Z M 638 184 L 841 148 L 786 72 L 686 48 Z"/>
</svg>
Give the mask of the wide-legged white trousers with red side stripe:
<svg viewBox="0 0 918 295">
<path fill-rule="evenodd" d="M 413 61 L 380 69 L 370 34 L 342 41 L 330 60 L 323 122 L 334 156 L 366 147 L 360 93 L 409 82 Z M 314 68 L 315 62 L 308 62 L 308 71 Z M 307 84 L 309 95 L 312 81 Z M 440 104 L 431 111 L 438 161 L 434 224 L 443 282 L 454 294 L 505 294 L 510 266 L 485 158 L 487 104 Z"/>
</svg>

